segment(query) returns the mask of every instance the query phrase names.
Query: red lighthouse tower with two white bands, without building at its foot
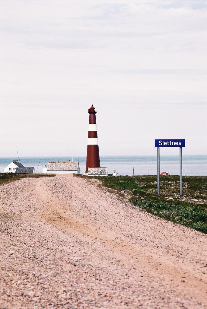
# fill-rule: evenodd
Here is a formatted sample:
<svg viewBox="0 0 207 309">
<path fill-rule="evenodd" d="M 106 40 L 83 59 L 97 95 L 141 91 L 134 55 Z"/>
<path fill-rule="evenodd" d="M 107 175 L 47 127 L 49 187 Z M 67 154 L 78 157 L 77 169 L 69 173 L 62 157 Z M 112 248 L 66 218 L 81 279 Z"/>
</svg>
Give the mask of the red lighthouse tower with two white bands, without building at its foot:
<svg viewBox="0 0 207 309">
<path fill-rule="evenodd" d="M 88 167 L 100 167 L 99 158 L 99 144 L 96 127 L 96 111 L 93 104 L 88 109 L 89 112 L 89 128 L 88 128 L 88 146 L 87 146 L 87 157 L 86 157 L 86 174 Z"/>
</svg>

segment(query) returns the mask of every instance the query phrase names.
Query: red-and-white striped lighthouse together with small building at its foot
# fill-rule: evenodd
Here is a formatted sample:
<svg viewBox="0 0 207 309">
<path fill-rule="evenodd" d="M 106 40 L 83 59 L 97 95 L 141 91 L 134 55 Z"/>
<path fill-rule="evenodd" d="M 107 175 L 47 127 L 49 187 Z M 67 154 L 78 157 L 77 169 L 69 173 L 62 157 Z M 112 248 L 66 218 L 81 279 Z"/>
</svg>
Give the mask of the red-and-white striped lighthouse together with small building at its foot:
<svg viewBox="0 0 207 309">
<path fill-rule="evenodd" d="M 88 127 L 88 146 L 86 157 L 86 172 L 88 176 L 106 176 L 108 175 L 107 168 L 100 166 L 99 144 L 96 127 L 96 110 L 92 106 L 88 109 L 89 127 Z"/>
</svg>

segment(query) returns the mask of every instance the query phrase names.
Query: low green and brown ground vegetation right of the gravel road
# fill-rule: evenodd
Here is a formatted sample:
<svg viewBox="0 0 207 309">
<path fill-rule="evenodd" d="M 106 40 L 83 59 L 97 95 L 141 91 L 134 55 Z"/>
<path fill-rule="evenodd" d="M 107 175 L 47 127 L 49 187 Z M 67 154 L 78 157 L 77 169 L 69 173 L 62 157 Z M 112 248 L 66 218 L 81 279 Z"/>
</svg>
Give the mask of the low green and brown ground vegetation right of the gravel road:
<svg viewBox="0 0 207 309">
<path fill-rule="evenodd" d="M 207 176 L 161 176 L 157 195 L 157 176 L 95 177 L 117 193 L 128 193 L 130 201 L 149 213 L 192 227 L 207 234 Z"/>
</svg>

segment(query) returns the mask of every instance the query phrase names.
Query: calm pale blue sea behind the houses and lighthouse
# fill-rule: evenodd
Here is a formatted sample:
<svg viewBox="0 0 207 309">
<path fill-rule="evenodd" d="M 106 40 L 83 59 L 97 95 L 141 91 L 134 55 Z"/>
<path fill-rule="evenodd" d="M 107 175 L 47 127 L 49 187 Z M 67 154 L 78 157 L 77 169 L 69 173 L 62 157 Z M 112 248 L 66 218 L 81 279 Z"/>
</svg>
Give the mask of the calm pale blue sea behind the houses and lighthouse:
<svg viewBox="0 0 207 309">
<path fill-rule="evenodd" d="M 59 160 L 78 161 L 81 174 L 85 173 L 86 157 L 20 157 L 25 167 L 35 167 L 36 173 L 42 173 L 42 167 L 48 162 Z M 17 157 L 0 158 L 0 172 Z M 160 173 L 167 171 L 171 175 L 180 175 L 179 155 L 160 155 Z M 107 167 L 108 173 L 116 171 L 118 175 L 157 175 L 157 156 L 100 156 L 101 167 Z M 207 176 L 207 155 L 183 155 L 184 176 Z"/>
</svg>

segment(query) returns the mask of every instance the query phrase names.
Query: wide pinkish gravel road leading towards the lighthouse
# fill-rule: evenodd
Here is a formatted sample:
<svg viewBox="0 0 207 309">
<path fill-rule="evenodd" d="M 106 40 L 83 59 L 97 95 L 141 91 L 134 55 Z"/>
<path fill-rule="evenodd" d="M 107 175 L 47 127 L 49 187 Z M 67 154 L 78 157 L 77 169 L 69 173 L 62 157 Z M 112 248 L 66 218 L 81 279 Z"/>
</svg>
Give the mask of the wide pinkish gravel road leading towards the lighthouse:
<svg viewBox="0 0 207 309">
<path fill-rule="evenodd" d="M 207 308 L 207 235 L 70 174 L 0 203 L 0 309 Z"/>
</svg>

